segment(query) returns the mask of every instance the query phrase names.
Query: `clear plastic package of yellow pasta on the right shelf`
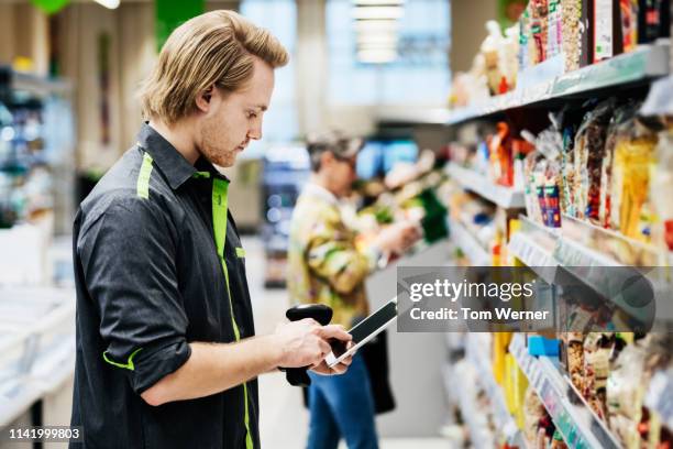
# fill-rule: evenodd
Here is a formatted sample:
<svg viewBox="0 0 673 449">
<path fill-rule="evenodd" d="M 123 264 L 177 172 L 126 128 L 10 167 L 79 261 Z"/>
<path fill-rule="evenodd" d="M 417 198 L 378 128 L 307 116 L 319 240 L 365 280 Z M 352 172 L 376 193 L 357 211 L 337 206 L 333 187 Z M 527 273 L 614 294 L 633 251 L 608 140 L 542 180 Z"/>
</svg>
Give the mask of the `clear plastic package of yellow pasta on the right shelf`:
<svg viewBox="0 0 673 449">
<path fill-rule="evenodd" d="M 657 134 L 639 120 L 625 123 L 615 144 L 610 186 L 610 227 L 649 241 L 654 217 L 648 204 Z"/>
</svg>

